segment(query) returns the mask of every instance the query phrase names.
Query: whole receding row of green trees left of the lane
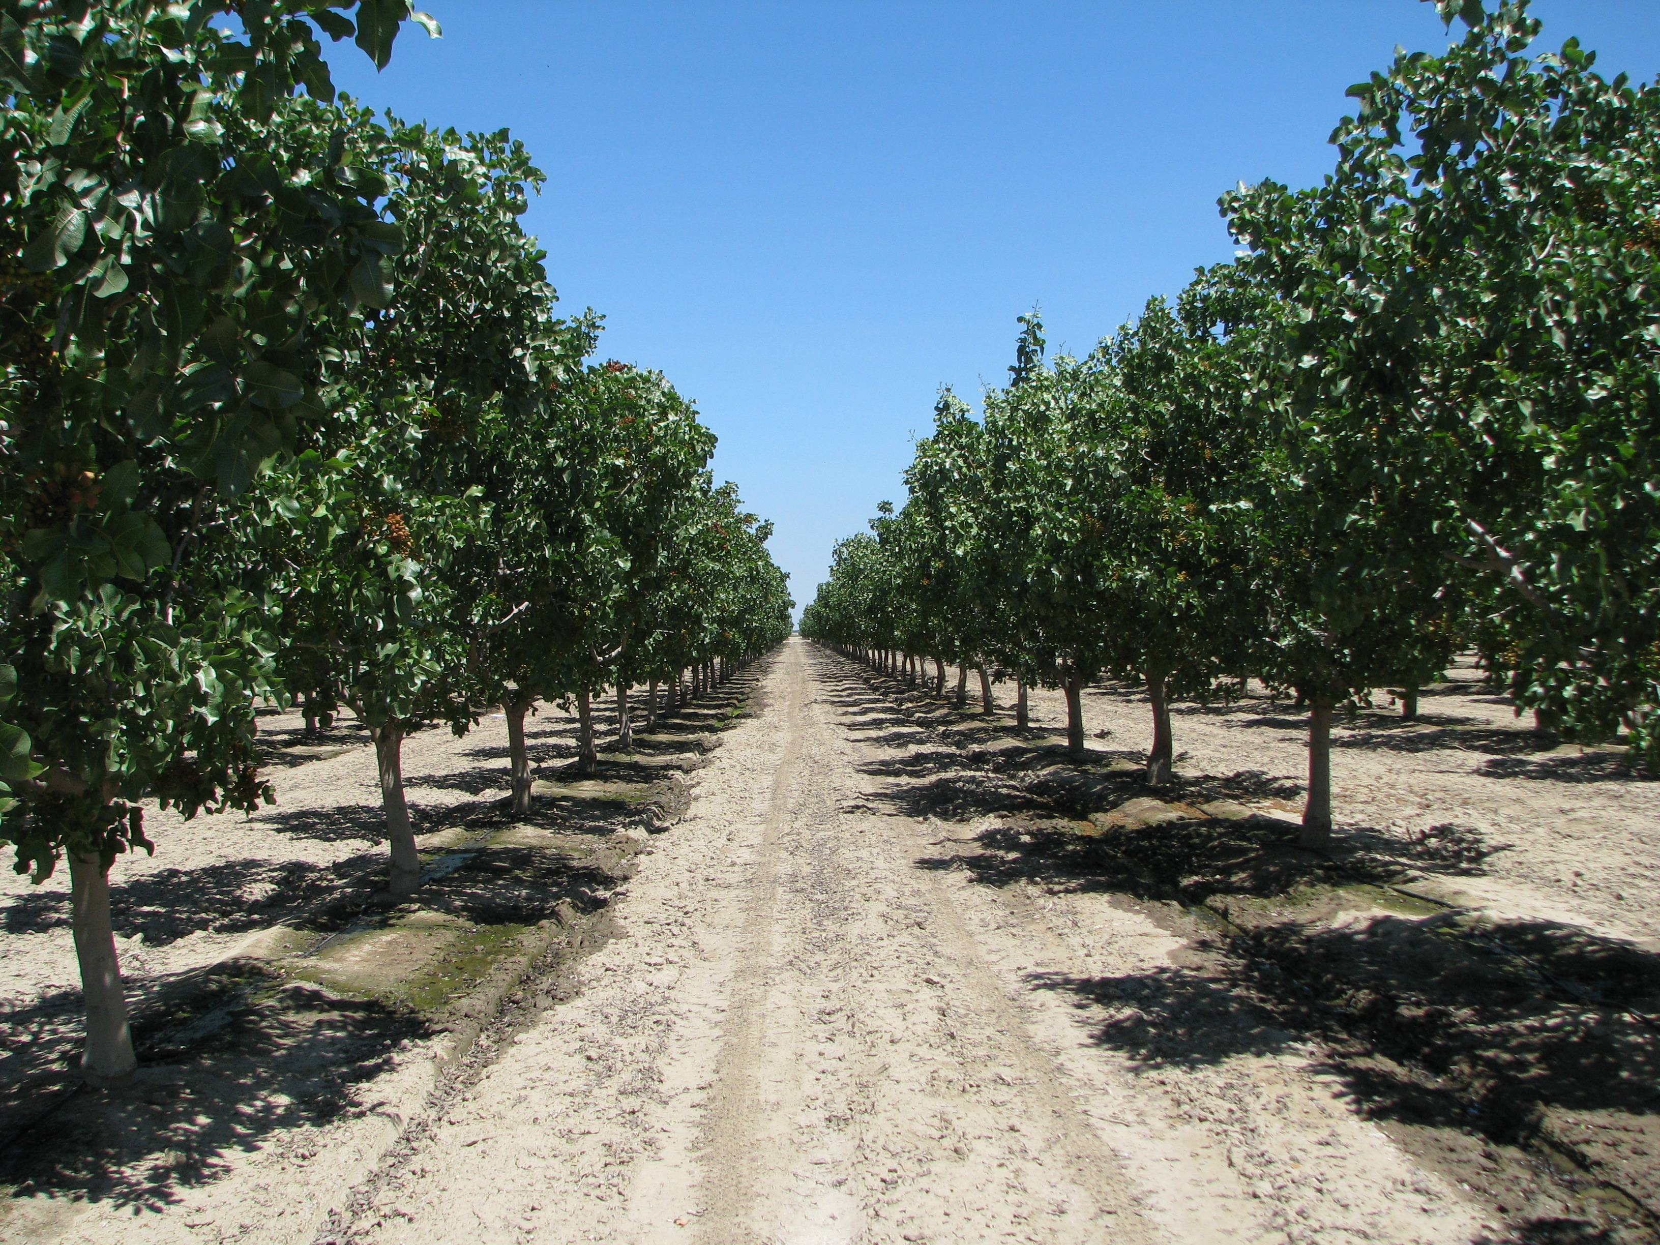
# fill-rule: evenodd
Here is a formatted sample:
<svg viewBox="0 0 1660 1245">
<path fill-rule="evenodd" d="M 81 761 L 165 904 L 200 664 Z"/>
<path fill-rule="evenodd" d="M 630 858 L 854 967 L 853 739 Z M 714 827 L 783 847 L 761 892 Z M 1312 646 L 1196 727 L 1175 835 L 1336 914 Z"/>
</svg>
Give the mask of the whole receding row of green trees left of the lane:
<svg viewBox="0 0 1660 1245">
<path fill-rule="evenodd" d="M 0 840 L 68 857 L 93 1081 L 134 1066 L 110 865 L 146 800 L 272 798 L 257 702 L 364 722 L 405 895 L 407 730 L 503 706 L 523 810 L 538 699 L 591 765 L 594 692 L 788 634 L 696 410 L 553 315 L 523 146 L 335 98 L 320 37 L 385 65 L 405 22 L 0 0 Z"/>
</svg>

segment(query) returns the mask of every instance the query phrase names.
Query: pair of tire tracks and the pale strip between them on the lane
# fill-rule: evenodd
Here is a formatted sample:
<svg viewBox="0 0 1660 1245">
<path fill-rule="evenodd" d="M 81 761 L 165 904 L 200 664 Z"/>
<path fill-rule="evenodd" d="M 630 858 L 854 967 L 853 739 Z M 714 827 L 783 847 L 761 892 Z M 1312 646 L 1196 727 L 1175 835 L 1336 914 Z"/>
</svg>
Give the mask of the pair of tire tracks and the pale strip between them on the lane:
<svg viewBox="0 0 1660 1245">
<path fill-rule="evenodd" d="M 710 1101 L 699 1240 L 1084 1242 L 1109 1225 L 1152 1240 L 905 837 L 837 812 L 853 755 L 823 701 L 800 720 L 803 656 L 788 659 L 790 744 Z M 802 734 L 818 764 L 798 774 Z"/>
</svg>

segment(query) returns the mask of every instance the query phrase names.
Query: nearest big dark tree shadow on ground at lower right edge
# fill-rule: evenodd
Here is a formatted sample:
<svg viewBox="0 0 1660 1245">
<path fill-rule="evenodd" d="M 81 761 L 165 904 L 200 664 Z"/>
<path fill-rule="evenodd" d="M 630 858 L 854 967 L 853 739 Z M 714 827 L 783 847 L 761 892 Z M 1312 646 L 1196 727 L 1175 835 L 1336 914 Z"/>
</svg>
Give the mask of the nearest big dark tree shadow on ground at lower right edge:
<svg viewBox="0 0 1660 1245">
<path fill-rule="evenodd" d="M 1660 1205 L 1660 956 L 1544 920 L 1237 916 L 1225 971 L 1365 1114 L 1542 1140 Z"/>
</svg>

